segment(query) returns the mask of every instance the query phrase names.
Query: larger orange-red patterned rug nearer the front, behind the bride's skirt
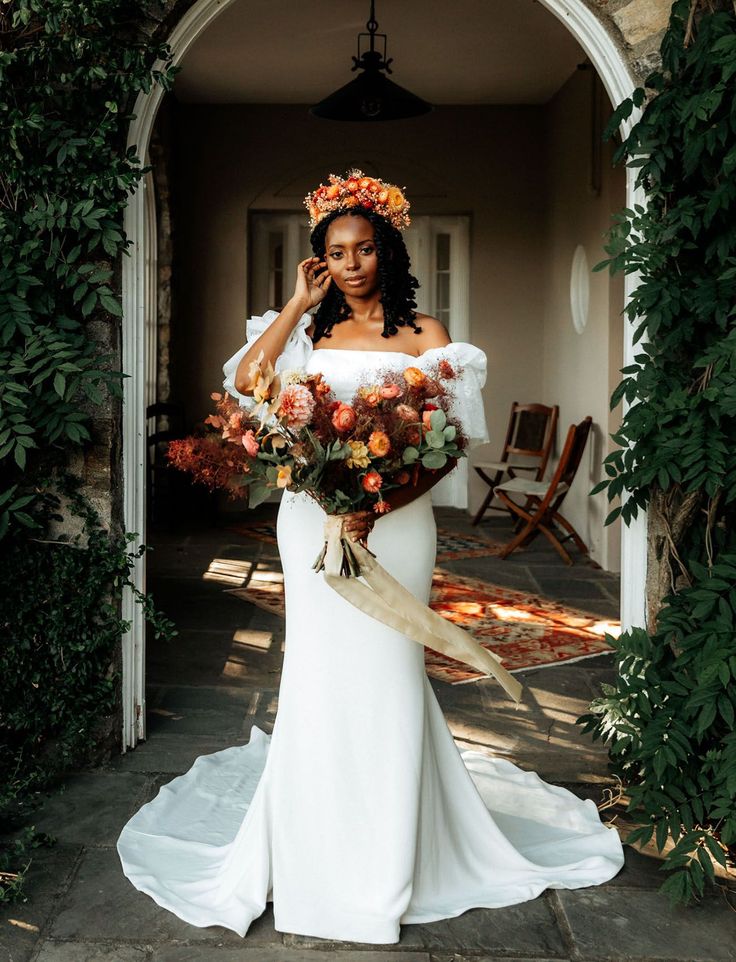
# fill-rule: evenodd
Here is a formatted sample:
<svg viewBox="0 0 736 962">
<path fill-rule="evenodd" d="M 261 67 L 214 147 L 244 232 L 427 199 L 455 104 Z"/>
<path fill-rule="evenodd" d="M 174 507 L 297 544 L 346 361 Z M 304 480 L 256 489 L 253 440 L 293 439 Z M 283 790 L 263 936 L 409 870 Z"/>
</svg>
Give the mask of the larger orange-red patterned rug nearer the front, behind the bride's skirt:
<svg viewBox="0 0 736 962">
<path fill-rule="evenodd" d="M 261 578 L 256 570 L 247 587 L 228 593 L 284 617 L 283 581 L 276 572 L 264 572 Z M 611 652 L 604 635 L 608 632 L 615 637 L 620 631 L 617 621 L 443 568 L 435 568 L 430 607 L 468 629 L 512 672 Z M 424 654 L 431 678 L 457 685 L 484 677 L 430 648 L 425 648 Z"/>
</svg>

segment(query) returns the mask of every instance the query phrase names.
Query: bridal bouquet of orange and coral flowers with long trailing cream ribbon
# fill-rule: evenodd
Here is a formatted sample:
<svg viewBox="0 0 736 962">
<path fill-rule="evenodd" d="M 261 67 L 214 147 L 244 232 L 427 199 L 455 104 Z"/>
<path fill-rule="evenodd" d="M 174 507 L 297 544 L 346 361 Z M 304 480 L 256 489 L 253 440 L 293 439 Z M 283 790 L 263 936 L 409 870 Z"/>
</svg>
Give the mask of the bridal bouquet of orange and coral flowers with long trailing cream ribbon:
<svg viewBox="0 0 736 962">
<path fill-rule="evenodd" d="M 170 463 L 210 488 L 260 504 L 270 490 L 305 491 L 327 514 L 313 568 L 356 608 L 426 645 L 494 676 L 517 701 L 521 685 L 469 632 L 419 602 L 360 541 L 344 535 L 341 515 L 370 506 L 390 510 L 384 494 L 417 483 L 448 458 L 465 456 L 468 439 L 449 415 L 460 371 L 441 359 L 427 371 L 387 370 L 338 400 L 322 374 L 276 374 L 263 354 L 248 371 L 251 410 L 213 394 L 209 434 L 172 441 Z M 362 579 L 362 580 L 361 580 Z"/>
</svg>

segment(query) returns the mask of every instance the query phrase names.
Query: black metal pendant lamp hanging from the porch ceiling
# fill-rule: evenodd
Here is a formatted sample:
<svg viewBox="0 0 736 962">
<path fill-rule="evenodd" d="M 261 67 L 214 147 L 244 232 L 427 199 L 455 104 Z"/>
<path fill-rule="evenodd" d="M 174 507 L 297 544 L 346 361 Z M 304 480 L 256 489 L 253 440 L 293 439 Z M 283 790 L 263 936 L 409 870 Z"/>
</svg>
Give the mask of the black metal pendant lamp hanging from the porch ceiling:
<svg viewBox="0 0 736 962">
<path fill-rule="evenodd" d="M 375 0 L 371 0 L 370 20 L 366 27 L 367 34 L 358 34 L 358 56 L 353 57 L 352 69 L 361 73 L 355 80 L 310 107 L 309 112 L 325 120 L 379 121 L 420 117 L 434 110 L 432 104 L 395 84 L 383 73 L 393 72 L 393 58 L 386 60 L 386 34 L 376 34 Z M 375 49 L 376 36 L 383 38 L 383 55 Z M 370 38 L 370 49 L 362 55 L 361 37 Z"/>
</svg>

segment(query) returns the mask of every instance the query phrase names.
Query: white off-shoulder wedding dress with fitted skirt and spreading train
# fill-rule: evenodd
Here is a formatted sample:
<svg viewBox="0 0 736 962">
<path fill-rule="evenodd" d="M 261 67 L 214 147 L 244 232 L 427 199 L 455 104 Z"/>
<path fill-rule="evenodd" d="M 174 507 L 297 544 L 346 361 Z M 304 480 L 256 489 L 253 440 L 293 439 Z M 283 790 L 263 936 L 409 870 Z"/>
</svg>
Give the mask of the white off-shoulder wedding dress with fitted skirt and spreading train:
<svg viewBox="0 0 736 962">
<path fill-rule="evenodd" d="M 249 319 L 238 361 L 277 316 Z M 371 371 L 447 357 L 464 370 L 455 413 L 487 440 L 486 356 L 454 343 L 419 358 L 312 349 L 305 314 L 276 368 L 322 371 L 348 401 Z M 387 342 L 390 344 L 390 341 Z M 400 925 L 608 881 L 624 858 L 591 800 L 503 758 L 459 751 L 415 641 L 354 608 L 312 569 L 325 515 L 285 491 L 277 522 L 286 642 L 269 736 L 202 755 L 125 825 L 123 871 L 196 926 L 245 936 L 273 902 L 279 932 L 395 943 Z M 431 493 L 380 517 L 368 545 L 423 603 L 436 554 Z"/>
</svg>

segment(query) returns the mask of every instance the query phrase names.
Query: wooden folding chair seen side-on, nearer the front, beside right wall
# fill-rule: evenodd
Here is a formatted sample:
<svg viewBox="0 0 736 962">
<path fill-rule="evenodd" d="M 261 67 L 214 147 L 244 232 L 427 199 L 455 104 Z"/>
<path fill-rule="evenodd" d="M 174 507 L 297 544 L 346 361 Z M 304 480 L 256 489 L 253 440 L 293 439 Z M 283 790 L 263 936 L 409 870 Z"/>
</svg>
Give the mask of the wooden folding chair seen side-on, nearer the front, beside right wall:
<svg viewBox="0 0 736 962">
<path fill-rule="evenodd" d="M 562 546 L 562 542 L 570 538 L 573 539 L 583 554 L 589 554 L 588 546 L 567 518 L 560 514 L 559 508 L 575 480 L 592 423 L 593 419 L 588 415 L 588 417 L 583 418 L 580 424 L 570 425 L 559 463 L 549 481 L 509 478 L 508 481 L 496 485 L 496 494 L 501 501 L 510 511 L 526 521 L 522 530 L 499 553 L 500 558 L 508 557 L 515 548 L 531 541 L 540 531 L 552 544 L 565 564 L 571 565 L 572 558 Z M 523 495 L 527 499 L 527 503 L 525 505 L 517 504 L 509 497 L 509 494 Z M 567 534 L 561 538 L 558 537 L 555 530 L 556 525 L 564 528 Z"/>
</svg>

